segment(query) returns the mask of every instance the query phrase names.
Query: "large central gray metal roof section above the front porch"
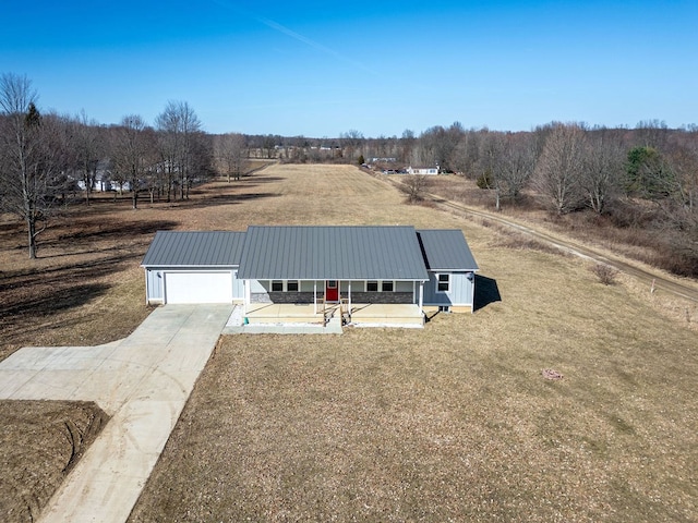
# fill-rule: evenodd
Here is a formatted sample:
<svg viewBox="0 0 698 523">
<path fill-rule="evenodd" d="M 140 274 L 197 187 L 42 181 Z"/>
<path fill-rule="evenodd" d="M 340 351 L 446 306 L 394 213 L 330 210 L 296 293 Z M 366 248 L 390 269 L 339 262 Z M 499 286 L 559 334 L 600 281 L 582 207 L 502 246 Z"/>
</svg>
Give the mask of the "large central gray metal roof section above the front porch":
<svg viewBox="0 0 698 523">
<path fill-rule="evenodd" d="M 240 279 L 428 280 L 413 227 L 250 227 Z"/>
</svg>

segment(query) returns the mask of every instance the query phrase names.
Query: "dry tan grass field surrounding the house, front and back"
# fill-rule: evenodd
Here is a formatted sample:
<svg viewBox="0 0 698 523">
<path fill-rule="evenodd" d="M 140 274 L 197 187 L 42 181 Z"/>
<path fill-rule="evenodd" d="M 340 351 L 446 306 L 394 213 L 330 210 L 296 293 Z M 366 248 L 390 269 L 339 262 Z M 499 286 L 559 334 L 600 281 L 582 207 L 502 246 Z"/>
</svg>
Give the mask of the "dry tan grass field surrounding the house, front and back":
<svg viewBox="0 0 698 523">
<path fill-rule="evenodd" d="M 490 292 L 474 315 L 437 315 L 423 330 L 222 338 L 132 521 L 698 519 L 698 338 L 657 306 L 665 297 L 406 205 L 346 166 L 274 166 L 188 203 L 104 206 L 48 231 L 36 265 L 0 226 L 4 354 L 137 326 L 148 313 L 139 263 L 163 228 L 460 228 Z M 84 292 L 52 305 L 75 285 Z M 16 296 L 8 316 L 5 295 Z M 564 377 L 545 379 L 547 368 Z"/>
</svg>

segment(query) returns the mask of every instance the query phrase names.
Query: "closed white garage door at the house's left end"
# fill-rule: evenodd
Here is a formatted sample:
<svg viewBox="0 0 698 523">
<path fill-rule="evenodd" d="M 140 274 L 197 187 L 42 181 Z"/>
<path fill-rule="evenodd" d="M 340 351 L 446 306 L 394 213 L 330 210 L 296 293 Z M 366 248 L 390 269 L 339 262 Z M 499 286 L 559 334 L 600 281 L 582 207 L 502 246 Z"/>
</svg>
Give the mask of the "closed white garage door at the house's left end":
<svg viewBox="0 0 698 523">
<path fill-rule="evenodd" d="M 230 272 L 166 272 L 167 303 L 232 303 Z"/>
</svg>

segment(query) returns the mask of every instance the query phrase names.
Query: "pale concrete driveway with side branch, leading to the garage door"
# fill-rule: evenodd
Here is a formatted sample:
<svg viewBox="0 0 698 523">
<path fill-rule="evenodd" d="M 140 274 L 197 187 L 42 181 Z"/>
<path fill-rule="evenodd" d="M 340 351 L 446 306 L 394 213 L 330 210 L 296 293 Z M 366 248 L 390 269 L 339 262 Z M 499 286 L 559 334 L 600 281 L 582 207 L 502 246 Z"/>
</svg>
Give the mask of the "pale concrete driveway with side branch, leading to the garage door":
<svg viewBox="0 0 698 523">
<path fill-rule="evenodd" d="M 112 416 L 39 521 L 128 519 L 231 312 L 167 305 L 121 341 L 24 348 L 0 362 L 0 399 L 95 401 Z"/>
</svg>

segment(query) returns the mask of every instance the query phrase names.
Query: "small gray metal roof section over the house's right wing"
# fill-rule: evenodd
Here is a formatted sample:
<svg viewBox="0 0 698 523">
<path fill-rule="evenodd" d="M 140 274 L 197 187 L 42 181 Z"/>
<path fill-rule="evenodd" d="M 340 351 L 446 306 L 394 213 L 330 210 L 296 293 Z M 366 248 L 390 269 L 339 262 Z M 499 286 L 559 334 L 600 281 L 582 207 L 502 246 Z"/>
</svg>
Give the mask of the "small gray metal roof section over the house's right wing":
<svg viewBox="0 0 698 523">
<path fill-rule="evenodd" d="M 421 229 L 417 231 L 429 270 L 478 270 L 462 231 Z"/>
</svg>

